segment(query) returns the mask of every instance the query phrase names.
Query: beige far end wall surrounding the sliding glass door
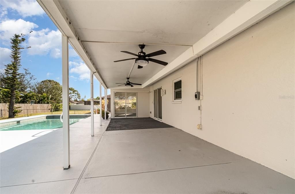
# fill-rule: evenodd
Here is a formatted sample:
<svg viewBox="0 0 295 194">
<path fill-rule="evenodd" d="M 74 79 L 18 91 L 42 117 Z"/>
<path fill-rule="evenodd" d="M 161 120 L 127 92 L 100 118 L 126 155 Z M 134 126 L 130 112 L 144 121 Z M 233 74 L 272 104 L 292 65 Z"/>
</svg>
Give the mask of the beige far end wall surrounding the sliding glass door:
<svg viewBox="0 0 295 194">
<path fill-rule="evenodd" d="M 137 117 L 149 117 L 149 88 L 111 89 L 111 118 L 114 118 L 114 92 L 137 92 Z"/>
</svg>

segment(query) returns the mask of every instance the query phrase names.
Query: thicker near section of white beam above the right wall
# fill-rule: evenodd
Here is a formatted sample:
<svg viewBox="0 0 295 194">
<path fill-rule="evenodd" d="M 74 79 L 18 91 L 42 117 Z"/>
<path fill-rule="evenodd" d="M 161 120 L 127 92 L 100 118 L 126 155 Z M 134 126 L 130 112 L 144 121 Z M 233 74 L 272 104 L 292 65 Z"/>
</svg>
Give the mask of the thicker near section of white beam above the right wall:
<svg viewBox="0 0 295 194">
<path fill-rule="evenodd" d="M 294 1 L 294 0 L 292 0 Z M 240 32 L 290 4 L 290 0 L 251 0 L 193 45 L 194 55 L 203 55 Z"/>
</svg>

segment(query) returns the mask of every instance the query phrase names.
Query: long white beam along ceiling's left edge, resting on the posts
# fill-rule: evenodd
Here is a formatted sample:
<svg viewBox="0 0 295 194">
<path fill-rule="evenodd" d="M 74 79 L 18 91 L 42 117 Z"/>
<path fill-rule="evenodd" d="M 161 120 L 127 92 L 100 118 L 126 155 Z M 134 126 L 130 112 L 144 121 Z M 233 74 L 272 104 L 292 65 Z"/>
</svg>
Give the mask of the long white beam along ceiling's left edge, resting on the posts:
<svg viewBox="0 0 295 194">
<path fill-rule="evenodd" d="M 76 50 L 77 54 L 81 57 L 88 68 L 95 72 L 94 76 L 99 80 L 99 82 L 106 88 L 104 80 L 101 78 L 96 65 L 88 54 L 86 48 L 81 42 L 78 33 L 75 31 L 71 25 L 70 19 L 67 17 L 63 8 L 61 7 L 58 0 L 37 0 L 40 6 L 44 9 L 53 23 L 58 27 L 63 35 L 66 35 L 69 39 L 70 44 Z"/>
</svg>

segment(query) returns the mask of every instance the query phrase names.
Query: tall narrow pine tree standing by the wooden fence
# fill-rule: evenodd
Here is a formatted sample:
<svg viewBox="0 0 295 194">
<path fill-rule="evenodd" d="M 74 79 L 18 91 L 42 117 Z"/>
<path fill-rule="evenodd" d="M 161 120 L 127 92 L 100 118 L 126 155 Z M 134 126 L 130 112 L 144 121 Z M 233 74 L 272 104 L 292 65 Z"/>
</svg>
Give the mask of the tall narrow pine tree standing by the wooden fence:
<svg viewBox="0 0 295 194">
<path fill-rule="evenodd" d="M 14 36 L 10 39 L 11 43 L 11 55 L 12 58 L 11 63 L 8 65 L 5 65 L 4 70 L 4 88 L 2 90 L 3 97 L 7 99 L 9 105 L 8 105 L 8 117 L 14 118 L 14 116 L 19 113 L 20 111 L 17 110 L 17 108 L 20 107 L 14 107 L 14 103 L 16 98 L 19 96 L 19 88 L 21 86 L 20 78 L 22 76 L 22 73 L 19 73 L 19 68 L 21 66 L 20 64 L 20 54 L 21 54 L 21 43 L 25 41 L 25 38 L 23 38 L 23 34 L 14 34 Z"/>
</svg>

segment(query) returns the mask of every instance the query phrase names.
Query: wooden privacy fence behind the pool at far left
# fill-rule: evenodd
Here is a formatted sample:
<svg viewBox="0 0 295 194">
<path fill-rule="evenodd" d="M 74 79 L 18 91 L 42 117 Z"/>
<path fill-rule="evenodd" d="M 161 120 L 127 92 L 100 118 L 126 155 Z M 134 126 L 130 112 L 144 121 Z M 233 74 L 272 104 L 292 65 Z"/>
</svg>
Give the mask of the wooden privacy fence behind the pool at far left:
<svg viewBox="0 0 295 194">
<path fill-rule="evenodd" d="M 35 113 L 48 113 L 50 112 L 50 104 L 14 104 L 18 110 L 22 110 L 17 115 L 29 115 Z M 0 117 L 8 117 L 8 104 L 0 103 Z"/>
</svg>

